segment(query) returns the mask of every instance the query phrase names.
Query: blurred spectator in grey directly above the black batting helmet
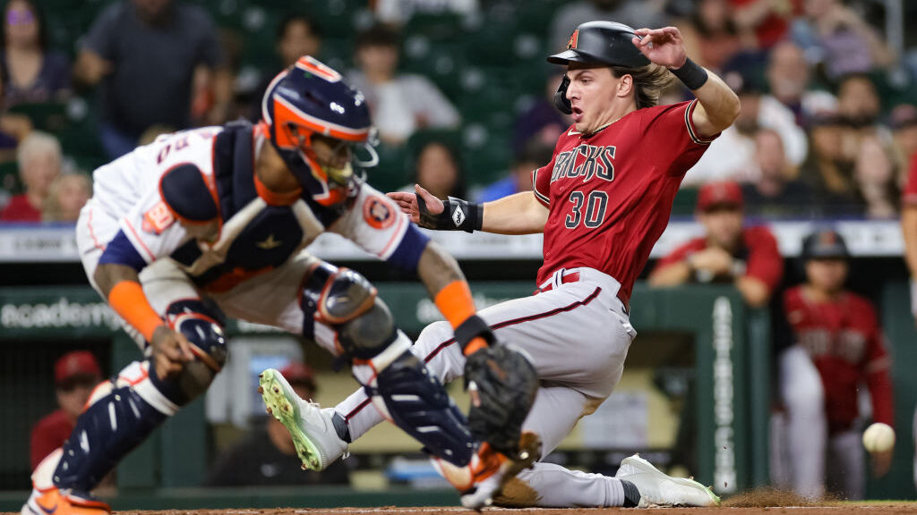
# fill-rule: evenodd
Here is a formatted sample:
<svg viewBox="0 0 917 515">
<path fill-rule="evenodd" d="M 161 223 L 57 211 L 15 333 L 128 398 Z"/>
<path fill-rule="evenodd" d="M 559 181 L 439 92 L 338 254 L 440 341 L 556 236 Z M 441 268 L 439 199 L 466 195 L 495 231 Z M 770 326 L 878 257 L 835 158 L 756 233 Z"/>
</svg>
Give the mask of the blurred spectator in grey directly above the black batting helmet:
<svg viewBox="0 0 917 515">
<path fill-rule="evenodd" d="M 562 5 L 554 13 L 549 52 L 567 48 L 570 34 L 587 21 L 606 19 L 634 28 L 665 27 L 661 2 L 657 0 L 580 0 Z"/>
</svg>

